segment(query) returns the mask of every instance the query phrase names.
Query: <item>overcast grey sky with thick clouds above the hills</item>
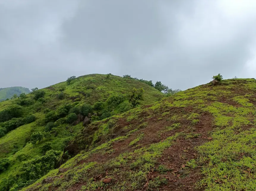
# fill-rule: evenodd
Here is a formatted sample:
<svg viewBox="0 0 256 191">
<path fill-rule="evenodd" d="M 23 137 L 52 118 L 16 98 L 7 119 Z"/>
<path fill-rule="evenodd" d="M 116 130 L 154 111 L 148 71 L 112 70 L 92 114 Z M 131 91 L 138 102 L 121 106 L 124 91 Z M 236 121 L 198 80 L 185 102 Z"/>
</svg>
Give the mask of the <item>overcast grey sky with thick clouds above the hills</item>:
<svg viewBox="0 0 256 191">
<path fill-rule="evenodd" d="M 256 78 L 256 1 L 0 0 L 0 88 L 91 73 L 191 88 Z"/>
</svg>

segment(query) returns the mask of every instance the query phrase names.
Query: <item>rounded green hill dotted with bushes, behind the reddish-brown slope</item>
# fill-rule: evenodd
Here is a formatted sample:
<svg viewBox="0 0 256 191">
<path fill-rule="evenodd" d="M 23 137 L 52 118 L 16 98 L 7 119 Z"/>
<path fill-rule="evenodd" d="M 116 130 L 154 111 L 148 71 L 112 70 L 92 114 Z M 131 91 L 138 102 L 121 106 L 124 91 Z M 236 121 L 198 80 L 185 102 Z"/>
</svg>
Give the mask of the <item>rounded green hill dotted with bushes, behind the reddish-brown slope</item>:
<svg viewBox="0 0 256 191">
<path fill-rule="evenodd" d="M 59 156 L 85 129 L 83 119 L 94 123 L 131 109 L 128 98 L 133 88 L 144 90 L 140 105 L 164 97 L 138 80 L 93 74 L 1 102 L 0 190 L 19 190 L 64 163 L 68 153 L 61 160 Z"/>
</svg>

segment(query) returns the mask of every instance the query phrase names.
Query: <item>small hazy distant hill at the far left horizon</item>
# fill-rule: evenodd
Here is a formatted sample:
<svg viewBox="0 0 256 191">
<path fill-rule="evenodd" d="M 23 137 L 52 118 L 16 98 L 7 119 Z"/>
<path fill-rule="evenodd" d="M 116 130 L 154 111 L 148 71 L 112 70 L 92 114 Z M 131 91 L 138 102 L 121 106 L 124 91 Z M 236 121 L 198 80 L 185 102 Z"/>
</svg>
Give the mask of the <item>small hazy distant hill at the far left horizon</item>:
<svg viewBox="0 0 256 191">
<path fill-rule="evenodd" d="M 23 87 L 0 88 L 0 101 L 10 99 L 14 94 L 20 96 L 21 93 L 28 94 L 30 90 Z"/>
</svg>

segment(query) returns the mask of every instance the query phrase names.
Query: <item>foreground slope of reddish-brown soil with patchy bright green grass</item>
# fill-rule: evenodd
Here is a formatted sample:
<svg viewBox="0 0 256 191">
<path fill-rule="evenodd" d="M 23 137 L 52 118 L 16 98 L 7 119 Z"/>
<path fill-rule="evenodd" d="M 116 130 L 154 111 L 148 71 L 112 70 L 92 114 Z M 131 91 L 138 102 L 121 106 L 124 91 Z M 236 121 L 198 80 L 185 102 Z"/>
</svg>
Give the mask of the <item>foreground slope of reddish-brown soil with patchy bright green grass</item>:
<svg viewBox="0 0 256 191">
<path fill-rule="evenodd" d="M 23 190 L 255 190 L 255 104 L 255 79 L 230 79 L 93 122 Z"/>
</svg>

